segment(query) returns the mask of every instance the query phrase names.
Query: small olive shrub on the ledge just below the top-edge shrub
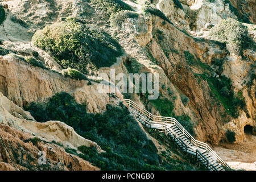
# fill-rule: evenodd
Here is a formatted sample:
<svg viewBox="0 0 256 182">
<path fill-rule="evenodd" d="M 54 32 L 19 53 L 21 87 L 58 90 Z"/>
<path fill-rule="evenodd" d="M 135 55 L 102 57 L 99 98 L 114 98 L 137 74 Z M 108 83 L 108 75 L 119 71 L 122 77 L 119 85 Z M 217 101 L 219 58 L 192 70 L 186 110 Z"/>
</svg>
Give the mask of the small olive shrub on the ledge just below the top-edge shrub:
<svg viewBox="0 0 256 182">
<path fill-rule="evenodd" d="M 121 28 L 122 23 L 125 22 L 127 18 L 138 18 L 139 14 L 133 11 L 119 11 L 118 13 L 112 14 L 110 16 L 110 26 Z"/>
</svg>

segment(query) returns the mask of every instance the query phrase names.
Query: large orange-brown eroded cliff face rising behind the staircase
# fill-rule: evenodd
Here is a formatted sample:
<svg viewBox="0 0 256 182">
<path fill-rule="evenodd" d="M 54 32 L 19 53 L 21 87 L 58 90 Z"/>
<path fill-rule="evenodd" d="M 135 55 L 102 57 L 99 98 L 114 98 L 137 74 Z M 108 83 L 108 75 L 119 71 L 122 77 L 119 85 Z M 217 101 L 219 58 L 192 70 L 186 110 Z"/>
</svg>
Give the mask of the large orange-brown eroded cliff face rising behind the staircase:
<svg viewBox="0 0 256 182">
<path fill-rule="evenodd" d="M 140 26 L 143 23 L 145 25 L 142 29 Z M 121 28 L 125 32 L 121 30 L 119 34 L 127 34 L 125 37 L 129 37 L 128 40 L 135 39 L 140 46 L 146 49 L 136 46 L 131 41 L 127 45 L 123 41 L 121 42 L 126 52 L 138 61 L 138 73 L 159 73 L 161 97 L 172 100 L 172 97 L 168 96 L 167 90 L 162 89 L 161 85 L 170 86 L 171 90 L 177 93 L 178 99 L 173 101 L 174 114 L 186 114 L 195 121 L 198 139 L 217 144 L 221 140 L 226 140 L 226 130 L 236 133 L 236 142 L 242 142 L 245 139 L 243 127 L 245 125 L 255 126 L 255 80 L 252 80 L 251 86 L 246 86 L 255 71 L 253 49 L 245 49 L 243 52 L 245 57 L 233 55 L 221 44 L 210 40 L 209 27 L 205 28 L 203 36 L 195 38 L 181 31 L 179 25 L 163 23 L 163 19 L 155 15 L 140 16 L 136 20 L 127 19 Z M 249 36 L 255 39 L 254 28 L 249 29 Z M 122 40 L 121 36 L 120 39 Z M 133 47 L 133 49 L 129 47 Z M 135 55 L 135 51 L 141 52 L 139 56 Z M 157 64 L 150 62 L 147 51 L 158 62 Z M 192 64 L 189 63 L 185 52 L 191 53 L 201 63 L 198 64 L 196 61 Z M 223 60 L 222 70 L 220 70 L 220 66 L 214 64 L 216 60 Z M 246 109 L 238 109 L 239 116 L 237 118 L 230 116 L 220 100 L 214 97 L 207 79 L 198 77 L 205 73 L 213 78 L 221 75 L 230 78 L 234 94 L 242 92 Z M 189 97 L 189 105 L 182 104 L 180 94 Z M 143 98 L 142 96 L 141 99 L 137 97 L 133 96 L 133 100 L 140 102 L 139 100 Z M 147 109 L 152 109 L 152 113 L 159 114 L 157 111 L 155 112 L 154 106 L 145 100 L 143 102 Z M 230 100 L 230 102 L 232 101 Z"/>
</svg>

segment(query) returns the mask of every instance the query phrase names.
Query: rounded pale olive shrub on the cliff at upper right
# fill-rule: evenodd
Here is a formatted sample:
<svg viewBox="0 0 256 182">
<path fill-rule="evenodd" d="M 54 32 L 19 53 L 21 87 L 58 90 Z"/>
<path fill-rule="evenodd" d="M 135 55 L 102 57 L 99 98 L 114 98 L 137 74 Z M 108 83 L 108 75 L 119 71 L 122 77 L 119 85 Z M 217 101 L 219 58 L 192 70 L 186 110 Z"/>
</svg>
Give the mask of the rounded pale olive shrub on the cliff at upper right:
<svg viewBox="0 0 256 182">
<path fill-rule="evenodd" d="M 242 55 L 250 43 L 248 28 L 232 18 L 224 19 L 211 29 L 210 36 L 218 42 L 228 44 L 230 52 Z"/>
</svg>

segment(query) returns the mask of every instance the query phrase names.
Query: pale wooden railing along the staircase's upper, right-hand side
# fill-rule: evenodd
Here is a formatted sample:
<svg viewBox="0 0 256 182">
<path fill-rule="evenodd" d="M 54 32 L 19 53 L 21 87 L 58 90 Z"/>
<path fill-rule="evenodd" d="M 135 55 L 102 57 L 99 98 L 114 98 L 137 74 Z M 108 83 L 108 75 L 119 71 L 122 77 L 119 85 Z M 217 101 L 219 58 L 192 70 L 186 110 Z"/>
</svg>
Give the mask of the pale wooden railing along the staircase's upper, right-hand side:
<svg viewBox="0 0 256 182">
<path fill-rule="evenodd" d="M 175 119 L 172 117 L 162 117 L 160 115 L 153 115 L 150 112 L 148 112 L 146 109 L 143 109 L 141 106 L 139 106 L 138 104 L 136 104 L 135 102 L 129 100 L 129 99 L 123 99 L 123 104 L 125 104 L 127 107 L 133 107 L 135 110 L 139 111 L 139 113 L 145 115 L 147 118 L 149 118 L 152 123 L 170 123 L 172 125 L 175 125 L 177 128 L 179 128 L 179 130 L 191 141 L 191 143 L 199 148 L 202 148 L 203 150 L 206 150 L 207 152 L 209 152 L 212 157 L 214 159 L 217 160 L 218 163 L 221 163 L 222 166 L 224 166 L 226 169 L 231 169 L 228 164 L 226 164 L 224 162 L 224 160 L 222 160 L 220 158 L 220 156 L 218 156 L 216 154 L 215 151 L 212 150 L 212 148 L 210 148 L 210 146 L 207 143 L 204 142 L 200 142 L 199 140 L 196 140 L 195 138 L 192 137 L 191 134 L 188 133 L 187 130 L 184 129 L 184 127 Z M 164 127 L 164 125 L 163 125 Z M 171 128 L 168 128 L 169 131 L 176 136 L 176 134 L 174 133 L 174 131 L 171 131 Z M 163 128 L 163 130 L 166 130 L 166 125 L 165 128 Z M 178 137 L 177 137 L 178 138 Z M 202 154 L 203 155 L 203 154 Z"/>
</svg>

